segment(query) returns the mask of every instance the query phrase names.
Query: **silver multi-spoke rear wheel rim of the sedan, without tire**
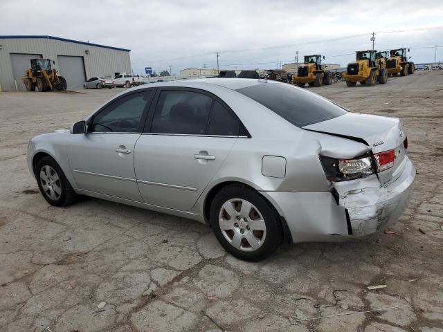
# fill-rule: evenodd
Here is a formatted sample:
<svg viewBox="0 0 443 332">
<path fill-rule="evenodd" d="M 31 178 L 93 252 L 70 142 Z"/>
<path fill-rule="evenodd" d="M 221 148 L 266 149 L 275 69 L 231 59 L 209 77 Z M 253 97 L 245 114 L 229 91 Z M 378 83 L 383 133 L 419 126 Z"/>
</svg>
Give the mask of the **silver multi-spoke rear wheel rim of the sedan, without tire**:
<svg viewBox="0 0 443 332">
<path fill-rule="evenodd" d="M 219 226 L 224 238 L 238 250 L 255 251 L 266 238 L 262 214 L 245 199 L 230 199 L 221 205 Z"/>
</svg>

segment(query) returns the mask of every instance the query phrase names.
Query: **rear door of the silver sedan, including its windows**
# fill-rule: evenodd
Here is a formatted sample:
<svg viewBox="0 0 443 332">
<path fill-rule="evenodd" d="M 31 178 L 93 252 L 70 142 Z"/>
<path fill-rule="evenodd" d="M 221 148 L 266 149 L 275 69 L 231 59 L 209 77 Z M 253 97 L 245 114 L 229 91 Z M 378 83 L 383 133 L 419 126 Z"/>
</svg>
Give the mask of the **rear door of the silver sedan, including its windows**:
<svg viewBox="0 0 443 332">
<path fill-rule="evenodd" d="M 239 135 L 226 104 L 197 89 L 159 89 L 134 165 L 145 203 L 190 210 Z"/>
</svg>

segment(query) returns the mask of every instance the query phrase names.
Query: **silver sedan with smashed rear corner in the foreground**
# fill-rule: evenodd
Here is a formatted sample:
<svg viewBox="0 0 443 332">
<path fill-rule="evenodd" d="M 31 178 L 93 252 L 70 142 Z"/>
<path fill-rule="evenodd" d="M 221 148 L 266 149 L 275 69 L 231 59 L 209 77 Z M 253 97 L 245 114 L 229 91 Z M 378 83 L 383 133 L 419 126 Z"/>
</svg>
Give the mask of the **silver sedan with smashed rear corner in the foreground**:
<svg viewBox="0 0 443 332">
<path fill-rule="evenodd" d="M 390 227 L 415 179 L 407 149 L 398 118 L 350 113 L 289 84 L 212 78 L 120 93 L 30 140 L 27 160 L 52 205 L 87 195 L 195 219 L 257 261 L 283 241 Z"/>
</svg>

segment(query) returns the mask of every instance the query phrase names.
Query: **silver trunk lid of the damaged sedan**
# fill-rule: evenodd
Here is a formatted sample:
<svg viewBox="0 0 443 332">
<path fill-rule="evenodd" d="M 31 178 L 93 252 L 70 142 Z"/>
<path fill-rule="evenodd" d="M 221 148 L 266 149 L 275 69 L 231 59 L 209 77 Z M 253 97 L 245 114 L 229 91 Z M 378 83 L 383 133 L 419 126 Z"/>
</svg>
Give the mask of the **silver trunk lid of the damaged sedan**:
<svg viewBox="0 0 443 332">
<path fill-rule="evenodd" d="M 406 136 L 398 118 L 347 113 L 338 118 L 309 124 L 303 129 L 363 142 L 374 154 L 395 149 L 394 166 L 379 173 L 383 185 L 395 181 L 404 167 L 406 149 L 403 142 Z"/>
</svg>

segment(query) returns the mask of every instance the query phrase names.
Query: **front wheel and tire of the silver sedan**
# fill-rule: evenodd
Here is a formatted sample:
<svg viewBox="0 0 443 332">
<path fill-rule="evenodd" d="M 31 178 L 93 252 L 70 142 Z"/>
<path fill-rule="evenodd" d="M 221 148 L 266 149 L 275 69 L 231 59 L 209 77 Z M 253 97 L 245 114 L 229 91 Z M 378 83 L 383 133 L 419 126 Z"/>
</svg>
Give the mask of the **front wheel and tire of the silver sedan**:
<svg viewBox="0 0 443 332">
<path fill-rule="evenodd" d="M 50 156 L 39 160 L 35 175 L 39 190 L 49 204 L 67 206 L 77 199 L 77 194 L 71 187 L 71 183 L 69 183 L 60 166 Z"/>
</svg>

